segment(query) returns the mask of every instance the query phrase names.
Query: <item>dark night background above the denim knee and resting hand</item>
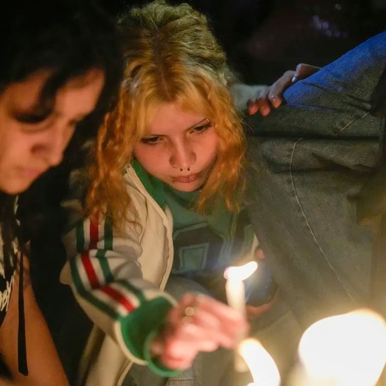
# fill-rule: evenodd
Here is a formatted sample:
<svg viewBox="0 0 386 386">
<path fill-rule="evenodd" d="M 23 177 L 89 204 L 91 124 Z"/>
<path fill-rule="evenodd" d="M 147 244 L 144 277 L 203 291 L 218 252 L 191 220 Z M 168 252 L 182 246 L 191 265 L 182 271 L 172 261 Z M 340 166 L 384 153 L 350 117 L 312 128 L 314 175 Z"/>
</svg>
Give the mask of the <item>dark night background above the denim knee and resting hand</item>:
<svg viewBox="0 0 386 386">
<path fill-rule="evenodd" d="M 103 0 L 113 14 L 147 1 Z M 168 0 L 169 4 L 182 1 Z M 386 28 L 386 0 L 191 0 L 209 16 L 233 68 L 270 84 L 299 62 L 324 66 Z"/>
</svg>

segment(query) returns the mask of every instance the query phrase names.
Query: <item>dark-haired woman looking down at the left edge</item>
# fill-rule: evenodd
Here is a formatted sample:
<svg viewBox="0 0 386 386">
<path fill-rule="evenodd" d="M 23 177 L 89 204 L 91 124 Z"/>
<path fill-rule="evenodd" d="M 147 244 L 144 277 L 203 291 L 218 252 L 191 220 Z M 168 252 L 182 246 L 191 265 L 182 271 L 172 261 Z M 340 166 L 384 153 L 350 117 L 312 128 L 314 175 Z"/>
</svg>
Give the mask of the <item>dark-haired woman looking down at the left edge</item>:
<svg viewBox="0 0 386 386">
<path fill-rule="evenodd" d="M 18 385 L 68 384 L 30 285 L 16 195 L 61 162 L 75 132 L 79 142 L 97 130 L 120 80 L 120 50 L 114 23 L 91 1 L 5 0 L 0 35 L 3 375 Z"/>
</svg>

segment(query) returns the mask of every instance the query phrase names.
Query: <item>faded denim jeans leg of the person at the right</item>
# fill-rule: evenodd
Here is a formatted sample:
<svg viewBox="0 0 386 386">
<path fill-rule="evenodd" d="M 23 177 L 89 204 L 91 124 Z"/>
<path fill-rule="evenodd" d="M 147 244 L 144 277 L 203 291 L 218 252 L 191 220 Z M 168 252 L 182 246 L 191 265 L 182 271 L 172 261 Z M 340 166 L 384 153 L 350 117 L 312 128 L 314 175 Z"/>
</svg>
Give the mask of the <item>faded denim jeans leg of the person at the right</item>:
<svg viewBox="0 0 386 386">
<path fill-rule="evenodd" d="M 370 112 L 385 68 L 382 33 L 249 122 L 249 215 L 303 328 L 369 301 L 372 233 L 357 222 L 356 196 L 378 162 L 382 119 Z"/>
</svg>

